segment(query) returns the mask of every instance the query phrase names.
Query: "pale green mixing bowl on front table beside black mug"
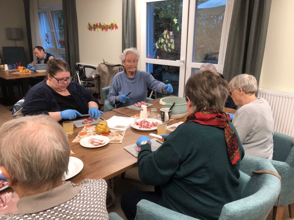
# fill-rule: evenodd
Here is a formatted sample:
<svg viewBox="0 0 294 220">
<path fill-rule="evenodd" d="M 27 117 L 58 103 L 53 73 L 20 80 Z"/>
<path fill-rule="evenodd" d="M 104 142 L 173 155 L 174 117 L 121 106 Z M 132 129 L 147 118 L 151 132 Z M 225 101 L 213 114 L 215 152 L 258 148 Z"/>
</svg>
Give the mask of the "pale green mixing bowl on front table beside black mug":
<svg viewBox="0 0 294 220">
<path fill-rule="evenodd" d="M 173 103 L 176 103 L 175 106 L 171 109 L 171 118 L 172 119 L 181 119 L 187 114 L 187 102 L 184 98 L 181 97 L 165 97 L 160 99 L 159 104 L 163 108 L 170 108 Z"/>
</svg>

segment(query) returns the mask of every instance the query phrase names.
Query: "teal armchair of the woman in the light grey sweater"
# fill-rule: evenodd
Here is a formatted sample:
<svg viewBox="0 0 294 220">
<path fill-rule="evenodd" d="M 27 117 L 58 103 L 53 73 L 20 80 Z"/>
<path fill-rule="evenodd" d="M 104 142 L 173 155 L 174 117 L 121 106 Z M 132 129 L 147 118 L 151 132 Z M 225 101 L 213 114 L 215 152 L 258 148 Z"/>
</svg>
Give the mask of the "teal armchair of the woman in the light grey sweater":
<svg viewBox="0 0 294 220">
<path fill-rule="evenodd" d="M 282 178 L 282 188 L 280 196 L 280 207 L 275 202 L 273 216 L 278 212 L 278 220 L 282 219 L 284 206 L 288 205 L 289 214 L 294 218 L 294 138 L 285 134 L 274 132 L 273 160 L 268 160 L 273 164 L 278 174 Z M 249 174 L 253 167 L 263 158 L 245 155 L 241 161 L 240 170 Z"/>
</svg>

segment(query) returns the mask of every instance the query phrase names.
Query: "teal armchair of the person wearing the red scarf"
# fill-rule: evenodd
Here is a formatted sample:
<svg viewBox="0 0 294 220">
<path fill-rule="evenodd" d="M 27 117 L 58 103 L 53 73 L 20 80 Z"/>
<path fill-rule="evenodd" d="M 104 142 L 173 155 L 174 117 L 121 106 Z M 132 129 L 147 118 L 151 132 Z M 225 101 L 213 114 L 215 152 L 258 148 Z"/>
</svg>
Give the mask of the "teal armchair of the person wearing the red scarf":
<svg viewBox="0 0 294 220">
<path fill-rule="evenodd" d="M 275 168 L 268 160 L 261 160 L 255 163 L 253 168 L 255 171 L 263 169 L 276 172 Z M 240 172 L 240 183 L 242 199 L 225 204 L 219 219 L 266 219 L 280 192 L 281 182 L 279 178 L 271 174 L 260 174 L 249 177 L 245 173 Z M 183 215 L 142 199 L 137 204 L 135 220 L 149 219 L 197 220 L 196 218 Z"/>
</svg>

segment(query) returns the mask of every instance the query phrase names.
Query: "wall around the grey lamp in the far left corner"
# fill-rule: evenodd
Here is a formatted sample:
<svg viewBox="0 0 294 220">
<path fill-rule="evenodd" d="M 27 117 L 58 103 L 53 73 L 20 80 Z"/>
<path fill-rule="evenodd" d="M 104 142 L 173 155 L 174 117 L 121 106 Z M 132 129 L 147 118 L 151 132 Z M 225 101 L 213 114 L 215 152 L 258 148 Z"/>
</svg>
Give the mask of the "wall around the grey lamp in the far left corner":
<svg viewBox="0 0 294 220">
<path fill-rule="evenodd" d="M 5 28 L 21 28 L 22 39 L 16 40 L 16 46 L 24 47 L 27 62 L 30 61 L 28 38 L 26 35 L 26 18 L 24 15 L 24 2 L 20 0 L 0 0 L 0 56 L 3 57 L 2 47 L 14 47 L 14 40 L 6 38 Z"/>
</svg>

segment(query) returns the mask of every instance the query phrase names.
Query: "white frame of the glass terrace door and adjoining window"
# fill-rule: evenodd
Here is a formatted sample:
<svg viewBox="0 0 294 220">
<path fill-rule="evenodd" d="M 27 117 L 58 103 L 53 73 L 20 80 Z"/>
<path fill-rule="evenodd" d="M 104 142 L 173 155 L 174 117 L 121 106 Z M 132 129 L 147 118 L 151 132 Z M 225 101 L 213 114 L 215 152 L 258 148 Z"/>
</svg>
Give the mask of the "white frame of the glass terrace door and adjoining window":
<svg viewBox="0 0 294 220">
<path fill-rule="evenodd" d="M 197 0 L 183 0 L 183 19 L 182 19 L 182 36 L 181 45 L 181 59 L 178 61 L 173 60 L 157 60 L 146 58 L 146 29 L 147 29 L 147 3 L 156 1 L 168 1 L 168 0 L 142 0 L 141 1 L 141 68 L 146 71 L 146 64 L 161 64 L 180 67 L 179 74 L 179 91 L 178 96 L 184 97 L 184 88 L 188 78 L 191 75 L 192 68 L 199 69 L 203 63 L 192 62 L 193 57 L 193 39 L 196 27 L 194 27 L 194 21 L 196 16 Z M 232 17 L 234 0 L 227 0 L 222 35 L 220 39 L 220 51 L 218 56 L 218 64 L 215 65 L 216 70 L 223 73 L 223 65 L 225 61 L 225 52 L 228 43 L 228 33 L 230 29 L 230 21 Z M 188 13 L 185 13 L 185 10 Z M 183 24 L 188 24 L 187 28 L 183 28 Z M 148 40 L 148 39 L 147 39 Z"/>
</svg>

